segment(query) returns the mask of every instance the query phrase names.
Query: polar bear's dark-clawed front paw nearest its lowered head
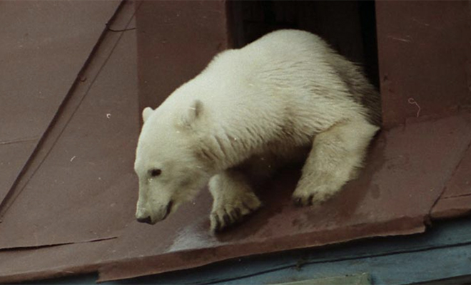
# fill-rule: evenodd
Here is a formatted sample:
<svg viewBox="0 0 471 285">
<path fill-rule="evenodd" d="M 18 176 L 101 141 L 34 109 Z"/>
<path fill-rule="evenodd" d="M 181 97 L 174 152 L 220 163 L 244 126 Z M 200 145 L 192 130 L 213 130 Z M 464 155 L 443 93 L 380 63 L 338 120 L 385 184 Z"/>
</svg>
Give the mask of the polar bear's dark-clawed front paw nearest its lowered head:
<svg viewBox="0 0 471 285">
<path fill-rule="evenodd" d="M 242 222 L 245 217 L 260 208 L 261 203 L 253 193 L 245 193 L 229 201 L 219 202 L 211 212 L 211 232 L 221 232 L 233 224 Z"/>
</svg>

